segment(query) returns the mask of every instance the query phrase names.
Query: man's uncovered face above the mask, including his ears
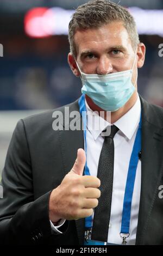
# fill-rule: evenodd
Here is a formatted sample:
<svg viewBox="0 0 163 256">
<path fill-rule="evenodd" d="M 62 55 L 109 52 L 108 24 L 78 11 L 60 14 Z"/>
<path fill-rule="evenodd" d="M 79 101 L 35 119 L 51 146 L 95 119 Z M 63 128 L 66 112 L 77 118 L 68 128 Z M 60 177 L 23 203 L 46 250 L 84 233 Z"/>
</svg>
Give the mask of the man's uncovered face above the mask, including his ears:
<svg viewBox="0 0 163 256">
<path fill-rule="evenodd" d="M 133 67 L 136 52 L 121 22 L 112 22 L 96 29 L 78 30 L 74 35 L 74 42 L 78 65 L 86 74 L 106 75 Z M 133 83 L 136 81 L 137 66 L 141 67 L 144 62 L 145 49 L 142 53 L 141 47 L 138 46 L 136 50 Z M 140 59 L 141 63 L 139 63 Z M 68 61 L 74 75 L 79 76 L 80 72 L 73 57 L 69 56 Z"/>
</svg>

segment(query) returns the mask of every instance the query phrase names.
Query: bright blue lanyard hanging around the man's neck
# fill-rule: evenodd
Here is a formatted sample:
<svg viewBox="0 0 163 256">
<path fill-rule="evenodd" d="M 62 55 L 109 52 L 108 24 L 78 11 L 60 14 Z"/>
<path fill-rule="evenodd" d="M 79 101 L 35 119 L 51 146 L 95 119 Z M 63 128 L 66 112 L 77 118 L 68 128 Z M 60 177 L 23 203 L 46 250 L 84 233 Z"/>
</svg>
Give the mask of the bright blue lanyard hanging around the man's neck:
<svg viewBox="0 0 163 256">
<path fill-rule="evenodd" d="M 79 111 L 82 115 L 83 126 L 84 126 L 84 148 L 86 154 L 86 106 L 85 106 L 85 95 L 83 94 L 79 99 Z M 121 224 L 121 233 L 129 235 L 129 226 L 130 226 L 130 215 L 131 215 L 131 203 L 133 198 L 134 183 L 136 176 L 137 164 L 139 161 L 139 152 L 141 151 L 141 118 L 139 123 L 139 129 L 136 133 L 136 138 L 134 142 L 133 151 L 131 153 L 131 158 L 129 162 L 129 169 L 127 175 L 126 188 L 124 193 L 123 201 L 123 212 L 122 212 L 122 224 Z M 87 167 L 87 154 L 86 154 L 86 163 L 84 169 L 84 175 L 90 175 L 90 170 Z M 85 218 L 85 227 L 92 227 L 92 217 Z"/>
</svg>

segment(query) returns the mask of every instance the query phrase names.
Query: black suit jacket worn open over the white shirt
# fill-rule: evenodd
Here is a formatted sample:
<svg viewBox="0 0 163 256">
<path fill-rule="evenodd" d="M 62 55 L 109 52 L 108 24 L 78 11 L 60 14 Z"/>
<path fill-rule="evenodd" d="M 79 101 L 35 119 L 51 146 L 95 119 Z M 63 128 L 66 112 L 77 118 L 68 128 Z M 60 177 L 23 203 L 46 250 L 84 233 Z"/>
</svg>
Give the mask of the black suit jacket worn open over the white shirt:
<svg viewBox="0 0 163 256">
<path fill-rule="evenodd" d="M 78 101 L 67 105 L 79 111 Z M 142 174 L 137 245 L 163 245 L 163 109 L 141 98 Z M 64 107 L 57 109 L 64 113 Z M 20 120 L 13 133 L 2 174 L 0 243 L 83 245 L 84 219 L 66 221 L 63 234 L 52 234 L 48 217 L 51 191 L 68 173 L 84 148 L 83 131 L 54 131 L 54 111 Z M 79 117 L 82 122 L 82 118 Z"/>
</svg>

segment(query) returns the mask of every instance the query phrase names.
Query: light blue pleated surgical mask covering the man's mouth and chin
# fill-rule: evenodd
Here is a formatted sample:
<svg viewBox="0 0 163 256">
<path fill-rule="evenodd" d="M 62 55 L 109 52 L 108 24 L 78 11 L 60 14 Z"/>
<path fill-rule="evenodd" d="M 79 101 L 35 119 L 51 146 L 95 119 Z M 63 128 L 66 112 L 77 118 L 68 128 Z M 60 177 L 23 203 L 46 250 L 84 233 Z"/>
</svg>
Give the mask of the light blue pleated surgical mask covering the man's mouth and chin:
<svg viewBox="0 0 163 256">
<path fill-rule="evenodd" d="M 98 107 L 115 112 L 123 107 L 135 92 L 137 77 L 133 85 L 131 82 L 133 68 L 108 75 L 90 75 L 83 73 L 78 66 L 83 84 L 82 93 L 89 96 Z"/>
</svg>

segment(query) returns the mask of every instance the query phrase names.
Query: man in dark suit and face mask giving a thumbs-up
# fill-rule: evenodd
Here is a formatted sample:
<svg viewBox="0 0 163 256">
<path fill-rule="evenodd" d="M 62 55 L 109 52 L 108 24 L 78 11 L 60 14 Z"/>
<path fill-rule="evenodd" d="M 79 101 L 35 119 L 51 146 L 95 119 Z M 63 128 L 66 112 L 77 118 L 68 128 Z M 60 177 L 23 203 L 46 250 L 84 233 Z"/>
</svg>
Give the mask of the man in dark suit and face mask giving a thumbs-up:
<svg viewBox="0 0 163 256">
<path fill-rule="evenodd" d="M 74 75 L 82 75 L 83 88 L 87 81 L 83 80 L 83 77 L 86 79 L 85 74 L 105 77 L 131 70 L 127 89 L 133 92 L 128 99 L 128 90 L 122 97 L 126 83 L 117 82 L 120 87 L 116 88 L 116 94 L 122 97 L 122 106 L 118 105 L 118 96 L 116 101 L 109 98 L 112 102 L 109 104 L 105 94 L 111 97 L 110 91 L 109 94 L 105 92 L 102 102 L 101 92 L 97 90 L 95 96 L 89 86 L 87 92 L 83 89 L 86 110 L 104 111 L 106 121 L 109 121 L 106 112 L 110 111 L 110 123 L 119 129 L 114 138 L 115 167 L 107 241 L 120 243 L 119 227 L 130 160 L 128 156 L 131 155 L 139 123 L 135 124 L 132 135 L 128 131 L 134 120 L 141 117 L 141 152 L 133 188 L 128 244 L 162 245 L 163 200 L 159 197 L 159 187 L 163 184 L 163 109 L 150 105 L 137 94 L 137 68 L 143 66 L 145 45 L 139 42 L 133 17 L 126 9 L 112 2 L 89 2 L 73 15 L 69 40 L 71 53 L 68 54 L 68 63 Z M 118 94 L 120 88 L 122 91 Z M 78 100 L 66 107 L 70 113 L 79 113 Z M 85 218 L 92 215 L 93 209 L 96 211 L 98 200 L 102 197 L 102 184 L 96 177 L 96 167 L 103 138 L 101 135 L 93 137 L 87 126 L 87 165 L 91 175 L 83 175 L 86 161 L 83 130 L 71 129 L 72 118 L 67 123 L 65 112 L 63 106 L 20 120 L 16 126 L 2 174 L 1 243 L 84 244 Z M 56 113 L 62 113 L 65 118 L 58 130 L 53 126 Z M 82 116 L 79 115 L 76 121 L 82 124 Z M 119 187 L 117 182 L 120 182 Z M 118 226 L 117 222 L 120 222 Z"/>
</svg>

